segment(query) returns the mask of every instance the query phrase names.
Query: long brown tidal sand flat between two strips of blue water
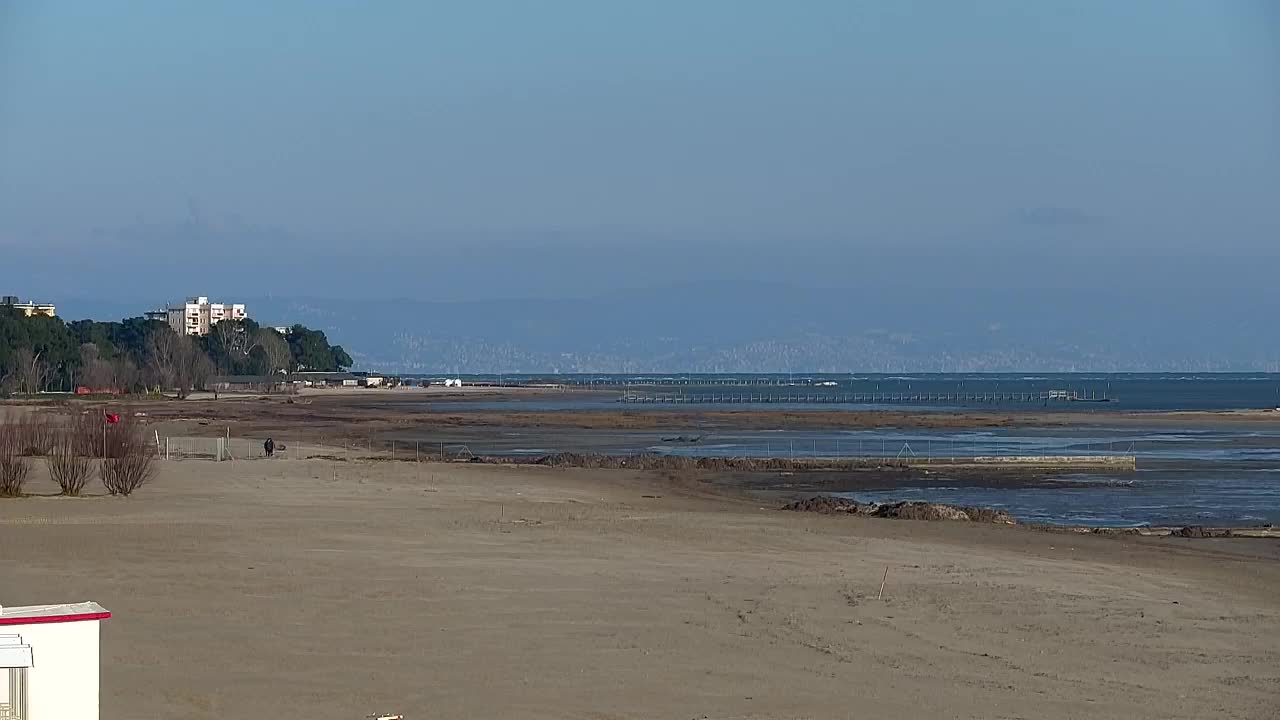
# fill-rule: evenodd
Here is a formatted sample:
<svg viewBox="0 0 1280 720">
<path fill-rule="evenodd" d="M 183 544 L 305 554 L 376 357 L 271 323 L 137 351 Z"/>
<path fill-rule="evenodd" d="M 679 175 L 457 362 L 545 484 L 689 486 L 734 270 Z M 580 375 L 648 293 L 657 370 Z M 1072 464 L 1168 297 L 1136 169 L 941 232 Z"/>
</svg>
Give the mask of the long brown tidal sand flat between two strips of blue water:
<svg viewBox="0 0 1280 720">
<path fill-rule="evenodd" d="M 462 388 L 467 391 L 470 388 Z M 288 433 L 305 428 L 312 437 L 369 438 L 387 433 L 492 433 L 521 430 L 654 430 L 699 433 L 724 429 L 980 429 L 1082 427 L 1280 427 L 1280 413 L 1236 411 L 1042 411 L 1032 409 L 666 409 L 608 407 L 577 410 L 527 409 L 529 398 L 600 395 L 593 391 L 540 388 L 397 388 L 312 391 L 301 396 L 221 395 L 219 400 L 120 401 L 168 423 L 174 432 L 198 433 L 201 423 L 229 428 L 232 434 Z M 204 396 L 201 396 L 204 397 Z M 475 407 L 472 400 L 488 404 Z M 507 402 L 502 400 L 509 400 Z M 494 402 L 495 401 L 495 402 Z M 88 405 L 104 405 L 90 402 Z"/>
</svg>

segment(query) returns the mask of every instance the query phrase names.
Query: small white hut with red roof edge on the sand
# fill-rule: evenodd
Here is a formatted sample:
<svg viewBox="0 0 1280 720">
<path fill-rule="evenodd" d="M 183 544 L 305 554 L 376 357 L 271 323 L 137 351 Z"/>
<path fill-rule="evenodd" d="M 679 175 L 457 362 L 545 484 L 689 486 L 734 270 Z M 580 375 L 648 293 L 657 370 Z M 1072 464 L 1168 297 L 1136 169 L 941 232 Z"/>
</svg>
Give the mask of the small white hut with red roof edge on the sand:
<svg viewBox="0 0 1280 720">
<path fill-rule="evenodd" d="M 96 602 L 0 607 L 0 717 L 97 720 Z"/>
</svg>

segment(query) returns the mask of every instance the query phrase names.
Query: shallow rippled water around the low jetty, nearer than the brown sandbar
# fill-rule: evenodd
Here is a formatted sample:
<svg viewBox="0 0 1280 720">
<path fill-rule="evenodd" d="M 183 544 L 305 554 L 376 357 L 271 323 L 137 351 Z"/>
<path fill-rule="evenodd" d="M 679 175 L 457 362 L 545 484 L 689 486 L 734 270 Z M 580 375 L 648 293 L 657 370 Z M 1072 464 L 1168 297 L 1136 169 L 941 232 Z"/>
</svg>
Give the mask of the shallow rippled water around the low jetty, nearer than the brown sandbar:
<svg viewBox="0 0 1280 720">
<path fill-rule="evenodd" d="M 685 434 L 666 433 L 673 438 Z M 1280 524 L 1280 425 L 1091 427 L 874 429 L 874 430 L 731 430 L 700 436 L 698 442 L 663 442 L 654 430 L 511 428 L 431 445 L 476 455 L 540 456 L 554 452 L 632 455 L 657 452 L 691 457 L 948 457 L 973 455 L 1132 454 L 1138 471 L 1064 473 L 1029 487 L 982 487 L 982 482 L 936 486 L 919 479 L 874 492 L 864 501 L 933 500 L 1004 507 L 1025 521 L 1082 525 Z M 398 436 L 412 442 L 410 434 Z M 457 445 L 454 445 L 457 443 Z M 887 482 L 893 482 L 892 475 Z M 992 486 L 997 483 L 991 483 Z M 1014 483 L 1016 484 L 1016 483 Z"/>
</svg>

